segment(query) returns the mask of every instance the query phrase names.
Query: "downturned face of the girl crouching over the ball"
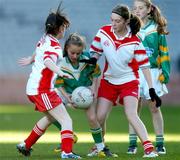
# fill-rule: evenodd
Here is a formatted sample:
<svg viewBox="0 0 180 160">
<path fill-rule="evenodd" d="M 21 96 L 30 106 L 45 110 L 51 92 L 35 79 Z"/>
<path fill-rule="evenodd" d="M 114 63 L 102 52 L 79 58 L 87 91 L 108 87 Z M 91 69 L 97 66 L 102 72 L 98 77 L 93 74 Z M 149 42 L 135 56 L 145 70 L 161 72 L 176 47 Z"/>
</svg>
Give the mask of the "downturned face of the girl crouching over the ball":
<svg viewBox="0 0 180 160">
<path fill-rule="evenodd" d="M 77 45 L 74 45 L 74 44 L 70 44 L 67 47 L 68 57 L 69 57 L 70 61 L 73 64 L 78 63 L 78 59 L 79 59 L 82 51 L 83 51 L 83 47 L 82 46 L 77 46 Z"/>
</svg>

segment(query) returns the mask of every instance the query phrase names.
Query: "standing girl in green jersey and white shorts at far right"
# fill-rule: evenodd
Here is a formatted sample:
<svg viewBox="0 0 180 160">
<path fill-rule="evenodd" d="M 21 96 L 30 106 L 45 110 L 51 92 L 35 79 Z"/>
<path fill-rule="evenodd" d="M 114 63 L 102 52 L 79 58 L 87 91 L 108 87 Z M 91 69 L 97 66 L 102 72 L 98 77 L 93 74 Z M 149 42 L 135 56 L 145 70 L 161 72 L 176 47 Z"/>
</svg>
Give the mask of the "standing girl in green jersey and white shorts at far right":
<svg viewBox="0 0 180 160">
<path fill-rule="evenodd" d="M 170 74 L 170 58 L 166 43 L 167 21 L 162 16 L 160 9 L 152 4 L 150 0 L 135 0 L 133 12 L 142 20 L 142 27 L 138 33 L 151 64 L 151 74 L 153 86 L 157 91 L 158 96 L 168 93 L 165 86 L 169 81 Z M 142 108 L 142 98 L 150 100 L 148 86 L 142 71 L 140 73 L 140 99 L 138 113 Z M 159 154 L 166 154 L 164 147 L 164 122 L 159 106 L 150 103 L 150 111 L 152 114 L 154 130 L 156 133 L 156 151 Z M 129 127 L 129 148 L 128 154 L 137 152 L 137 135 L 135 130 L 130 125 Z"/>
</svg>

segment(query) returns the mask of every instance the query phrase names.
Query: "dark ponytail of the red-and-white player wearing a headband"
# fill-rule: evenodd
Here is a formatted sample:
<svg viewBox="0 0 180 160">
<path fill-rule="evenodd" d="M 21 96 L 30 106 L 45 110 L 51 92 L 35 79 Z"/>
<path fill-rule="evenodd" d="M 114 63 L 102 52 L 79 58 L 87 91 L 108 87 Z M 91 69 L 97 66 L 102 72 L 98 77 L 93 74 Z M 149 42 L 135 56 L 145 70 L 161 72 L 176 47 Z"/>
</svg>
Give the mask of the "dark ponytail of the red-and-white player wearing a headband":
<svg viewBox="0 0 180 160">
<path fill-rule="evenodd" d="M 134 14 L 130 16 L 129 26 L 131 28 L 132 34 L 137 34 L 141 28 L 141 20 Z"/>
</svg>

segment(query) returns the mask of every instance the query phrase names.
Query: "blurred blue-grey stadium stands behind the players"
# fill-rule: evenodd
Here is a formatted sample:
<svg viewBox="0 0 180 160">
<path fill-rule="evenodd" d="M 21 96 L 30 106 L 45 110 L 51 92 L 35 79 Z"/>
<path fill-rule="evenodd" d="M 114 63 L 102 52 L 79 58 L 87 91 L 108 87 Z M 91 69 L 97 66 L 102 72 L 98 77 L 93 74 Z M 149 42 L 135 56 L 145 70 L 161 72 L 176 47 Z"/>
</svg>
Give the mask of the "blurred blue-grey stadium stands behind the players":
<svg viewBox="0 0 180 160">
<path fill-rule="evenodd" d="M 180 17 L 179 0 L 154 0 L 168 19 L 171 81 L 166 104 L 180 104 Z M 71 20 L 66 36 L 79 32 L 86 37 L 87 49 L 98 28 L 110 22 L 111 9 L 118 3 L 131 7 L 132 0 L 64 0 Z M 17 65 L 20 57 L 33 53 L 44 31 L 44 22 L 59 0 L 0 0 L 0 104 L 28 103 L 25 85 L 31 67 Z M 61 42 L 63 44 L 63 41 Z M 100 62 L 102 63 L 102 62 Z"/>
</svg>

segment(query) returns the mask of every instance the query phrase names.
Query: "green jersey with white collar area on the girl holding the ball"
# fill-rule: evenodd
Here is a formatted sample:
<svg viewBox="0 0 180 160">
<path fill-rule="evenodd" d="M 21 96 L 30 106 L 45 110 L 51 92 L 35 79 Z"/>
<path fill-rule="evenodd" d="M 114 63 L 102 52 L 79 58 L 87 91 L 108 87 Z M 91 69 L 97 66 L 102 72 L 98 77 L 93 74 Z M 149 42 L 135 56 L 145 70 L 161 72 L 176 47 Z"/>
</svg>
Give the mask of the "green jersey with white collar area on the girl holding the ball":
<svg viewBox="0 0 180 160">
<path fill-rule="evenodd" d="M 88 52 L 83 52 L 79 60 L 89 59 L 90 55 Z M 60 69 L 71 75 L 73 78 L 57 77 L 55 87 L 63 87 L 69 94 L 79 86 L 91 86 L 93 78 L 97 78 L 101 75 L 99 65 L 90 65 L 87 63 L 80 62 L 78 66 L 73 66 L 68 57 L 64 57 L 60 62 Z"/>
</svg>

